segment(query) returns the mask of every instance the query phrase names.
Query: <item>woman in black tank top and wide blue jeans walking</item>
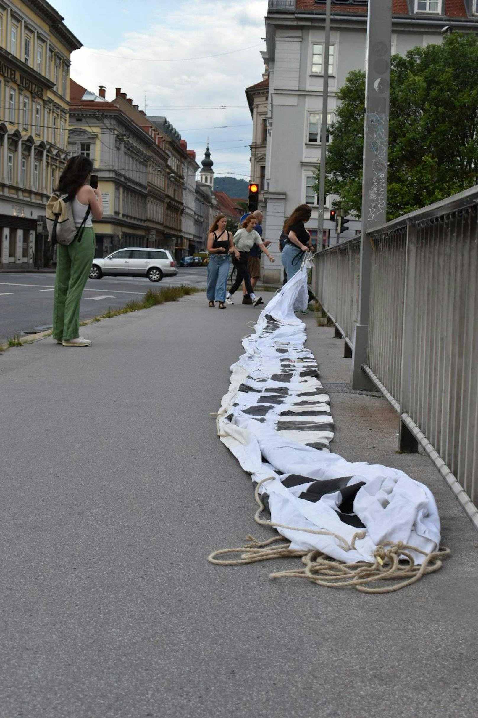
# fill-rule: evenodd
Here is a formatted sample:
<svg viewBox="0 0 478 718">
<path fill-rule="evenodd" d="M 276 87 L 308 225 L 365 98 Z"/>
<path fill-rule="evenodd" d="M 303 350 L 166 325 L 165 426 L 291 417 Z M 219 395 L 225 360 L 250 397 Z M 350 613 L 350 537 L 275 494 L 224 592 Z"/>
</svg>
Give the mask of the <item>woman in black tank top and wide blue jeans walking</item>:
<svg viewBox="0 0 478 718">
<path fill-rule="evenodd" d="M 218 309 L 226 309 L 227 275 L 229 274 L 229 254 L 239 256 L 234 248 L 232 233 L 226 231 L 225 215 L 217 215 L 208 234 L 207 251 L 209 252 L 208 281 L 206 297 L 209 307 L 214 307 L 214 301 L 219 302 Z"/>
</svg>

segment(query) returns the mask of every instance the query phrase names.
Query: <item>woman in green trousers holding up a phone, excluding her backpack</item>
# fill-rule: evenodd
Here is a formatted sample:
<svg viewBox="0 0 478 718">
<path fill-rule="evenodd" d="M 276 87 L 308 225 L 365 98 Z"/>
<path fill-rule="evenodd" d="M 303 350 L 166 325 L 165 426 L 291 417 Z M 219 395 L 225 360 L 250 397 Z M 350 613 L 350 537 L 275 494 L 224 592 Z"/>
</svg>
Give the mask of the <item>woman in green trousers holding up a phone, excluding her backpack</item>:
<svg viewBox="0 0 478 718">
<path fill-rule="evenodd" d="M 87 157 L 70 157 L 57 188 L 60 195 L 69 195 L 75 225 L 79 228 L 78 236 L 71 244 L 57 245 L 53 338 L 64 347 L 87 347 L 91 344 L 90 340 L 80 337 L 80 299 L 95 256 L 91 215 L 95 220 L 103 216 L 101 192 L 89 184 L 92 169 L 92 162 Z"/>
</svg>

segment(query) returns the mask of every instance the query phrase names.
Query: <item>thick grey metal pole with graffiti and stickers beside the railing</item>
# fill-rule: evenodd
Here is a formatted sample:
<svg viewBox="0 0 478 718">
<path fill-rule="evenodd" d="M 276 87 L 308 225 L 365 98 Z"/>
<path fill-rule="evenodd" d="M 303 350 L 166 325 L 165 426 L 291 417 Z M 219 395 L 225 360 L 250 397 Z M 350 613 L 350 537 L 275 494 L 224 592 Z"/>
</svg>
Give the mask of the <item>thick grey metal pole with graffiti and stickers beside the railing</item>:
<svg viewBox="0 0 478 718">
<path fill-rule="evenodd" d="M 367 363 L 372 264 L 372 246 L 367 233 L 386 223 L 387 218 L 391 32 L 392 0 L 368 0 L 358 322 L 350 376 L 353 389 L 373 386 L 362 370 L 362 365 Z"/>
</svg>

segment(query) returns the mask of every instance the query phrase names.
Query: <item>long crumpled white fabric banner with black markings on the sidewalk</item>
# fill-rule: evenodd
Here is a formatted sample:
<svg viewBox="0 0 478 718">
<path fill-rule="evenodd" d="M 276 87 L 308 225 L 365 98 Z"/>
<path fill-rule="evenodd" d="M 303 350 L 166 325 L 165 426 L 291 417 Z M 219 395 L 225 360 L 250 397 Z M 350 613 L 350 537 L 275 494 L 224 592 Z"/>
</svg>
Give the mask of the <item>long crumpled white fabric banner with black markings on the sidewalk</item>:
<svg viewBox="0 0 478 718">
<path fill-rule="evenodd" d="M 292 541 L 291 549 L 319 549 L 346 563 L 373 563 L 376 546 L 387 542 L 435 551 L 440 522 L 426 486 L 396 469 L 347 462 L 329 451 L 330 401 L 315 358 L 304 347 L 305 325 L 294 314 L 306 284 L 302 267 L 242 341 L 245 353 L 231 367 L 219 411 L 221 441 L 254 482 L 272 477 L 259 492 L 272 522 L 292 527 L 277 528 Z M 304 529 L 329 531 L 345 541 Z M 424 560 L 411 554 L 417 564 Z"/>
</svg>

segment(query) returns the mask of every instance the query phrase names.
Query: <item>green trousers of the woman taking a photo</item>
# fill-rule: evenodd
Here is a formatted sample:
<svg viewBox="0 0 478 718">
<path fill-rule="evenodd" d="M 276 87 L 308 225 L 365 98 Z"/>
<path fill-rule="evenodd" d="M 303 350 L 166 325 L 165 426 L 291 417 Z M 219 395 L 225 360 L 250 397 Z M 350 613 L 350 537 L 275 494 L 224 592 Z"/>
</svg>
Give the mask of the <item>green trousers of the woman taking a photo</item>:
<svg viewBox="0 0 478 718">
<path fill-rule="evenodd" d="M 54 280 L 53 338 L 61 342 L 80 336 L 80 299 L 95 256 L 95 232 L 85 227 L 81 241 L 57 245 Z"/>
</svg>

